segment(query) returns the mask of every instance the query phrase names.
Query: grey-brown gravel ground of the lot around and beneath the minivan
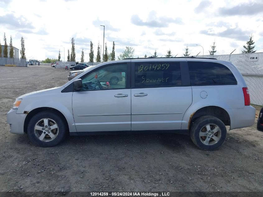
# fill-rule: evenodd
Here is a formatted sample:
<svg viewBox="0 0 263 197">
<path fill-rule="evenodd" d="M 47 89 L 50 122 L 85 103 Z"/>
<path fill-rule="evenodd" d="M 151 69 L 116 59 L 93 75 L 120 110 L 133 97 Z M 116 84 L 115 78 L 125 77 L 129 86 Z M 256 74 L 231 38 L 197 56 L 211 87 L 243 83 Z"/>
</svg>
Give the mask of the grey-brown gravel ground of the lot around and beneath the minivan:
<svg viewBox="0 0 263 197">
<path fill-rule="evenodd" d="M 16 97 L 67 82 L 68 70 L 0 67 L 0 191 L 261 191 L 263 132 L 228 132 L 216 151 L 179 134 L 72 136 L 52 148 L 9 133 Z"/>
</svg>

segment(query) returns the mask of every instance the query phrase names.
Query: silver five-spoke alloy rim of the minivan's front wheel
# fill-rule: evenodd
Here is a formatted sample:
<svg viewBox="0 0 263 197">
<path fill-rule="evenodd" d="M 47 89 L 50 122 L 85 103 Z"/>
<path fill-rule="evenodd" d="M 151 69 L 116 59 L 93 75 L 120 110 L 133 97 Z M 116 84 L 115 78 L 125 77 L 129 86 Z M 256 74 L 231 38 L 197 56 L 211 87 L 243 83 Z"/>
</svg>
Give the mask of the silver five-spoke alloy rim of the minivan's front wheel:
<svg viewBox="0 0 263 197">
<path fill-rule="evenodd" d="M 42 118 L 35 124 L 34 133 L 40 141 L 50 142 L 58 136 L 59 126 L 50 118 Z"/>
</svg>

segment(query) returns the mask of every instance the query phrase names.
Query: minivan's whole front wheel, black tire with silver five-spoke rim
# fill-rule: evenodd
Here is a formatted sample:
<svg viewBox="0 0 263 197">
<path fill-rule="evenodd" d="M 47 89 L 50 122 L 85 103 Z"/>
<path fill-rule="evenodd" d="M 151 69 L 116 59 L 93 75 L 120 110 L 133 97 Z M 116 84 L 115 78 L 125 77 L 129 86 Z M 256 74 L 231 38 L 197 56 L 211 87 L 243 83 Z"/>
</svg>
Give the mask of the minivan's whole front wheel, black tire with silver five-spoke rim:
<svg viewBox="0 0 263 197">
<path fill-rule="evenodd" d="M 59 115 L 43 111 L 31 118 L 27 134 L 31 142 L 38 146 L 52 147 L 63 140 L 66 131 L 65 123 Z"/>
</svg>

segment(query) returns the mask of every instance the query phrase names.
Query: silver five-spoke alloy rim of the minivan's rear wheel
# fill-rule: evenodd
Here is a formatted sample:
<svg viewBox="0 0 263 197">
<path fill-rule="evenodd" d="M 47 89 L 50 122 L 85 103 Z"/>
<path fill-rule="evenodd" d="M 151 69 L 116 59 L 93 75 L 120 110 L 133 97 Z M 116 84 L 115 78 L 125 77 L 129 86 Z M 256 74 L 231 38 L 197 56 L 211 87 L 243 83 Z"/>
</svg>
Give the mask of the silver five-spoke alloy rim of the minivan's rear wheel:
<svg viewBox="0 0 263 197">
<path fill-rule="evenodd" d="M 211 146 L 221 138 L 221 129 L 216 124 L 206 124 L 199 131 L 199 139 L 205 145 Z"/>
</svg>

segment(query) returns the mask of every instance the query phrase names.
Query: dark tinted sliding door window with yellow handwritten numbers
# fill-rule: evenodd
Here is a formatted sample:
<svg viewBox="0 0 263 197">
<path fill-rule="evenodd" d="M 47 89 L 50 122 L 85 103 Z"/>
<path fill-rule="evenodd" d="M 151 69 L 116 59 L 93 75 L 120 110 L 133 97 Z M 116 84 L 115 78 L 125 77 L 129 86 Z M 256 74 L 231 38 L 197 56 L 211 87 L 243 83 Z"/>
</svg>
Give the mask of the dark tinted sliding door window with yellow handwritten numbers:
<svg viewBox="0 0 263 197">
<path fill-rule="evenodd" d="M 181 86 L 179 62 L 135 63 L 135 87 Z"/>
</svg>

